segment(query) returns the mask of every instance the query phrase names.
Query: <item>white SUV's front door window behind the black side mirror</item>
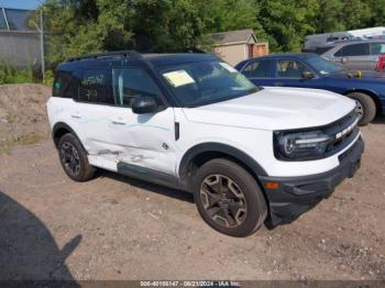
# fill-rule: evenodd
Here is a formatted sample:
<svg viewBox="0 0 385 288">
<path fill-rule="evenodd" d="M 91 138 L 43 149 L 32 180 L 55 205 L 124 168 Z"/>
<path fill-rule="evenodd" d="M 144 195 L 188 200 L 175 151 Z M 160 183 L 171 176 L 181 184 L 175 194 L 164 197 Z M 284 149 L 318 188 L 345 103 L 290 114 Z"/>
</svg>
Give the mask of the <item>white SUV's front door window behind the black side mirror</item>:
<svg viewBox="0 0 385 288">
<path fill-rule="evenodd" d="M 117 68 L 112 73 L 116 104 L 131 107 L 135 96 L 150 96 L 158 101 L 160 91 L 150 75 L 138 68 Z"/>
</svg>

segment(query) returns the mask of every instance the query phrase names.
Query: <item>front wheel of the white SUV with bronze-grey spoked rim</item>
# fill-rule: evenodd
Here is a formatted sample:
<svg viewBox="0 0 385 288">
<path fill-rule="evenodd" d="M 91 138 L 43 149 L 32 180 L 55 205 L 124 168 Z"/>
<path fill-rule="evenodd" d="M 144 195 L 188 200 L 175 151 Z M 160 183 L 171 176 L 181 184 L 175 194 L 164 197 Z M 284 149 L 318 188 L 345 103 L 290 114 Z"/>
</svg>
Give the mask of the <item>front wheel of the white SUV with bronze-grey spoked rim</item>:
<svg viewBox="0 0 385 288">
<path fill-rule="evenodd" d="M 226 158 L 209 160 L 198 169 L 194 199 L 205 222 L 230 236 L 253 234 L 267 215 L 266 201 L 255 179 Z"/>
</svg>

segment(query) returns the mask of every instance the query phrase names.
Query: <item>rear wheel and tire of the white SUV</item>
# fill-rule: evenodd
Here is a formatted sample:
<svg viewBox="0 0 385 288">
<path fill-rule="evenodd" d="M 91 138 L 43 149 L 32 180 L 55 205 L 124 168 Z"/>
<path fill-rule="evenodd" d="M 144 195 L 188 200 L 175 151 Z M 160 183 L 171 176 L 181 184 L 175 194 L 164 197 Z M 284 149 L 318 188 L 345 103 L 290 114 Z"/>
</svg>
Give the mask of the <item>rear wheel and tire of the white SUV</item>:
<svg viewBox="0 0 385 288">
<path fill-rule="evenodd" d="M 82 182 L 94 177 L 96 168 L 89 164 L 86 151 L 74 134 L 63 135 L 57 149 L 62 167 L 69 178 Z"/>
</svg>

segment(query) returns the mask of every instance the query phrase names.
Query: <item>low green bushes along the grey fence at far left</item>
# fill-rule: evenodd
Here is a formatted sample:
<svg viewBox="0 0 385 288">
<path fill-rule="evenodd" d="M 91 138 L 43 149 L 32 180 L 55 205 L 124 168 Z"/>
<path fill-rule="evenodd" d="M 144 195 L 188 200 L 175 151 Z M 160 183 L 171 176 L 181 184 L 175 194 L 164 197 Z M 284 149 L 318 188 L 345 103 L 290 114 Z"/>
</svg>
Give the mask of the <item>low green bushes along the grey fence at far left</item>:
<svg viewBox="0 0 385 288">
<path fill-rule="evenodd" d="M 33 68 L 18 69 L 9 62 L 0 63 L 0 85 L 34 82 Z"/>
</svg>

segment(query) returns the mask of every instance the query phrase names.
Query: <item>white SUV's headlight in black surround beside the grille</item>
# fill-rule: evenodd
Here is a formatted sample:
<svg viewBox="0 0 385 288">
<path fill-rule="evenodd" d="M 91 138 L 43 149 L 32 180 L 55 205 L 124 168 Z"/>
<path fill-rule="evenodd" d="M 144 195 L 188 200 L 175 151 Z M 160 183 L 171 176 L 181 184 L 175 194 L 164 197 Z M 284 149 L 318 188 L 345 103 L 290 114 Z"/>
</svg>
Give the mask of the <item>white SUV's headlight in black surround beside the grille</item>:
<svg viewBox="0 0 385 288">
<path fill-rule="evenodd" d="M 275 157 L 283 160 L 310 160 L 321 158 L 326 153 L 330 136 L 324 132 L 275 132 Z"/>
</svg>

